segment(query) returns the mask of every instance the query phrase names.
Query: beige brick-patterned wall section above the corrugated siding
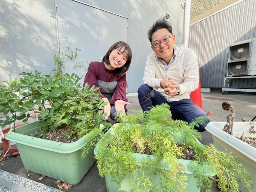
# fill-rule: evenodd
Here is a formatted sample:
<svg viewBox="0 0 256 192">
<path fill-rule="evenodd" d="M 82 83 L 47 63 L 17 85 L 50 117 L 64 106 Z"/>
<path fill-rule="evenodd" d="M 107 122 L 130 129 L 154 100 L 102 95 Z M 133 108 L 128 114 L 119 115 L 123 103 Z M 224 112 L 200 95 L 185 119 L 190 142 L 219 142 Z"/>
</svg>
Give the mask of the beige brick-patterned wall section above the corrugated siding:
<svg viewBox="0 0 256 192">
<path fill-rule="evenodd" d="M 191 0 L 190 24 L 212 15 L 239 0 Z"/>
</svg>

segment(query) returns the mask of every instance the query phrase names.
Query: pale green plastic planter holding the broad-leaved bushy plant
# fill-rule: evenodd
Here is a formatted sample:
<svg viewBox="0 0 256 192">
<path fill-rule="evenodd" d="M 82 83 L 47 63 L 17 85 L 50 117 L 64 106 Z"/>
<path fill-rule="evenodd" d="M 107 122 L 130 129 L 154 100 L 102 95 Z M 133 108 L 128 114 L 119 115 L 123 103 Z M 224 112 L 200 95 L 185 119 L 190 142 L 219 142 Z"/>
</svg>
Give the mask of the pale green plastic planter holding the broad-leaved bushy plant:
<svg viewBox="0 0 256 192">
<path fill-rule="evenodd" d="M 93 166 L 93 149 L 81 157 L 81 147 L 90 140 L 87 135 L 73 143 L 60 143 L 31 137 L 38 130 L 39 121 L 9 131 L 6 139 L 14 141 L 25 169 L 56 180 L 78 184 Z"/>
</svg>

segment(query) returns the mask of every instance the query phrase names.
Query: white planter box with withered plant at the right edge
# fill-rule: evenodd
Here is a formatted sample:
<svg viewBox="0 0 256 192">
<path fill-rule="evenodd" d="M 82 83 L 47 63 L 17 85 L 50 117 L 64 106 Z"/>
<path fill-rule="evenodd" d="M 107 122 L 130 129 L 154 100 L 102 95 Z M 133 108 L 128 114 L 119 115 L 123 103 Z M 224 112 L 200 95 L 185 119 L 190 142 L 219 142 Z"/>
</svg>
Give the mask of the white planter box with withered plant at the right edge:
<svg viewBox="0 0 256 192">
<path fill-rule="evenodd" d="M 242 165 L 253 178 L 253 189 L 256 191 L 256 148 L 236 138 L 241 136 L 243 131 L 246 137 L 256 137 L 256 134 L 248 133 L 250 122 L 234 122 L 232 136 L 222 131 L 226 123 L 227 122 L 209 122 L 206 126 L 206 130 L 212 134 L 213 144 L 218 150 L 224 151 L 224 148 L 226 148 L 241 160 Z M 241 192 L 245 191 L 242 187 L 239 189 Z"/>
</svg>

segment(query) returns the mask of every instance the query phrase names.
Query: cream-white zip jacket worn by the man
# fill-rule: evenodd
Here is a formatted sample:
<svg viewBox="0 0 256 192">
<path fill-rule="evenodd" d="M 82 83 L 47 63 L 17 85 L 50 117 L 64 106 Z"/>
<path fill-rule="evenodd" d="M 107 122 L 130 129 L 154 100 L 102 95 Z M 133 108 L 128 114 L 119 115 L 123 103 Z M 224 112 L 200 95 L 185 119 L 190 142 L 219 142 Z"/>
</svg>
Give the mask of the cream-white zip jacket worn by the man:
<svg viewBox="0 0 256 192">
<path fill-rule="evenodd" d="M 190 93 L 196 90 L 199 84 L 198 59 L 195 52 L 181 45 L 174 45 L 174 47 L 176 49 L 175 60 L 167 71 L 162 61 L 152 52 L 148 55 L 143 77 L 144 84 L 157 90 L 169 102 L 188 99 Z M 175 98 L 166 95 L 160 87 L 160 81 L 169 77 L 180 85 L 180 95 Z"/>
</svg>

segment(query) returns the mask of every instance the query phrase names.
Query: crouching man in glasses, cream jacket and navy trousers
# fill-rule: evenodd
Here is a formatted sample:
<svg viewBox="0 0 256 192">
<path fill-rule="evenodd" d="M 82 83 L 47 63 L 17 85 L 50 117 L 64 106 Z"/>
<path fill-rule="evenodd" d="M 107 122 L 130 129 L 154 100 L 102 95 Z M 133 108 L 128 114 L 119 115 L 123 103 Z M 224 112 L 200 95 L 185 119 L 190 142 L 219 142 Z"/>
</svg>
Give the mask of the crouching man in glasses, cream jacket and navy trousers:
<svg viewBox="0 0 256 192">
<path fill-rule="evenodd" d="M 145 65 L 144 84 L 138 89 L 138 98 L 143 111 L 167 103 L 174 119 L 191 122 L 192 119 L 207 116 L 189 98 L 198 88 L 198 61 L 195 52 L 181 45 L 175 45 L 175 35 L 167 20 L 157 20 L 148 31 L 148 39 L 154 52 L 148 55 Z M 195 127 L 206 131 L 209 120 Z"/>
</svg>

